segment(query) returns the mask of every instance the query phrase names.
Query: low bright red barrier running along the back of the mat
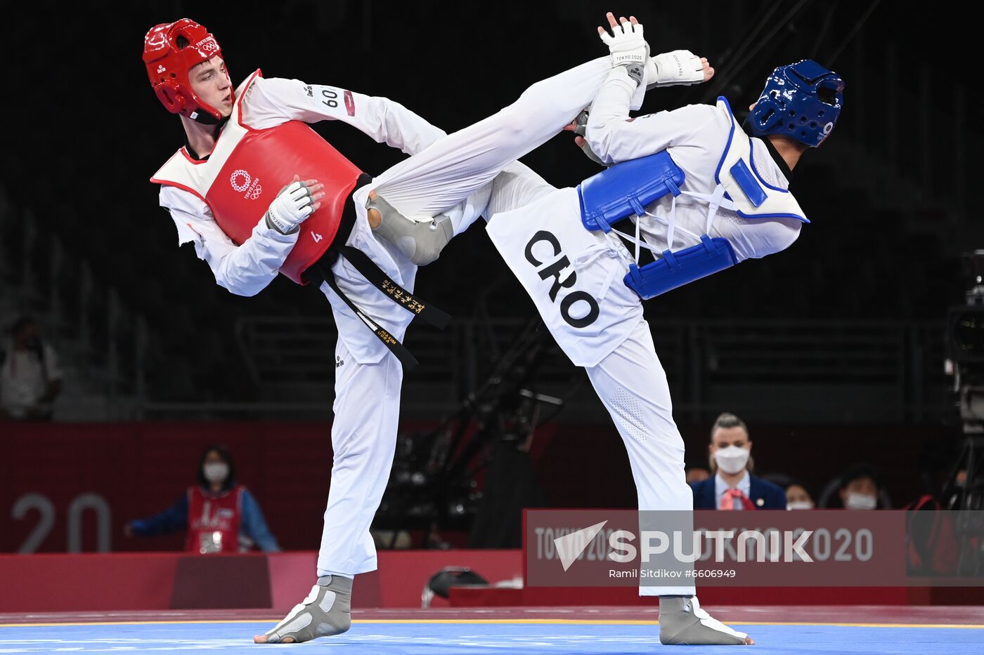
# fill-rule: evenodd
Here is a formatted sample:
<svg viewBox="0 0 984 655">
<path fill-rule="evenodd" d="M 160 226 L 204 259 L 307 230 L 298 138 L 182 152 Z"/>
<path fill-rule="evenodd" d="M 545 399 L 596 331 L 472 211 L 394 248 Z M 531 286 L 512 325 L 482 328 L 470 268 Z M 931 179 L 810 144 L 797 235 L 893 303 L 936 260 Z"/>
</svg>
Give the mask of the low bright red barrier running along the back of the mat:
<svg viewBox="0 0 984 655">
<path fill-rule="evenodd" d="M 522 552 L 383 552 L 379 570 L 355 578 L 356 608 L 420 607 L 427 579 L 444 566 L 468 566 L 490 582 L 523 569 Z M 0 614 L 184 609 L 271 610 L 286 613 L 314 582 L 316 554 L 195 556 L 176 553 L 0 556 Z M 980 589 L 705 587 L 705 605 L 960 605 L 980 604 Z M 632 606 L 655 604 L 632 587 L 452 590 L 433 607 Z"/>
</svg>

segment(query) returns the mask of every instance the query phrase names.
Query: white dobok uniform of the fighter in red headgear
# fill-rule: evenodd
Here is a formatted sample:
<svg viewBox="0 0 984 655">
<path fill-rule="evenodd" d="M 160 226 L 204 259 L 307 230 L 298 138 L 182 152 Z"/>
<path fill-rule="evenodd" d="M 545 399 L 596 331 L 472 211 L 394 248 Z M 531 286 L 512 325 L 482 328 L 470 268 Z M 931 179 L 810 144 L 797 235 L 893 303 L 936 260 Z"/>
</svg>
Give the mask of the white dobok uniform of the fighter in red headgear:
<svg viewBox="0 0 984 655">
<path fill-rule="evenodd" d="M 604 57 L 538 82 L 513 104 L 450 136 L 385 98 L 351 93 L 353 107 L 341 103 L 329 107 L 321 101 L 323 91 L 340 97 L 343 89 L 297 80 L 256 79 L 245 91 L 240 118 L 255 129 L 290 120 L 341 120 L 377 142 L 412 155 L 354 193 L 355 225 L 345 241 L 412 291 L 416 267 L 395 247 L 377 240 L 368 225 L 365 202 L 369 191 L 376 190 L 408 216 L 449 212 L 456 233 L 461 232 L 484 208 L 492 178 L 571 122 L 591 102 L 610 70 L 610 60 Z M 634 96 L 638 108 L 642 90 Z M 251 237 L 236 246 L 215 223 L 208 205 L 194 194 L 164 185 L 160 205 L 174 218 L 179 245 L 193 242 L 199 258 L 215 273 L 215 281 L 238 295 L 255 295 L 265 288 L 298 238 L 297 233 L 282 235 L 267 228 L 261 219 Z M 402 338 L 409 313 L 343 257 L 332 270 L 339 288 L 360 310 Z M 321 288 L 332 305 L 338 326 L 336 352 L 344 364 L 336 370 L 335 460 L 318 574 L 351 576 L 376 568 L 369 526 L 393 463 L 402 368 L 328 284 Z"/>
</svg>

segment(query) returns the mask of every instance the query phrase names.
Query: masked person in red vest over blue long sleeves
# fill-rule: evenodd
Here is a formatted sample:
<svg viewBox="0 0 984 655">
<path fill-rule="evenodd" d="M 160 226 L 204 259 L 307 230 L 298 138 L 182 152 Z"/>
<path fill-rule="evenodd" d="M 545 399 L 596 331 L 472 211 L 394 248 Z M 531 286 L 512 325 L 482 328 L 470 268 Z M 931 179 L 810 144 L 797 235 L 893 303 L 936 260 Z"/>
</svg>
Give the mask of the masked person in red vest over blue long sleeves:
<svg viewBox="0 0 984 655">
<path fill-rule="evenodd" d="M 198 485 L 159 514 L 130 521 L 123 528 L 128 537 L 155 537 L 188 531 L 189 553 L 237 553 L 253 545 L 267 553 L 280 550 L 263 511 L 246 487 L 236 483 L 232 455 L 224 446 L 210 446 L 202 453 Z"/>
</svg>

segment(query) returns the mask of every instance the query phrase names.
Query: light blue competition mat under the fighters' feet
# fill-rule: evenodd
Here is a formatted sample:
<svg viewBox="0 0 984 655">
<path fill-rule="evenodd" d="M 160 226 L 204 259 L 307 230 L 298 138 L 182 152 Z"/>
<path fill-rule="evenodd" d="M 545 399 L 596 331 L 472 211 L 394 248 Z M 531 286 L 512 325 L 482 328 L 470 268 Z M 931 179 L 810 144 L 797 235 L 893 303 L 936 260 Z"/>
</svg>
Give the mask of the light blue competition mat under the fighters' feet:
<svg viewBox="0 0 984 655">
<path fill-rule="evenodd" d="M 256 645 L 272 623 L 11 625 L 0 653 L 262 653 L 371 655 L 636 655 L 721 653 L 721 646 L 668 647 L 657 625 L 568 623 L 356 623 L 335 637 L 304 644 Z M 750 655 L 790 653 L 982 653 L 984 629 L 947 626 L 735 625 L 755 640 Z M 670 650 L 672 648 L 672 650 Z"/>
</svg>

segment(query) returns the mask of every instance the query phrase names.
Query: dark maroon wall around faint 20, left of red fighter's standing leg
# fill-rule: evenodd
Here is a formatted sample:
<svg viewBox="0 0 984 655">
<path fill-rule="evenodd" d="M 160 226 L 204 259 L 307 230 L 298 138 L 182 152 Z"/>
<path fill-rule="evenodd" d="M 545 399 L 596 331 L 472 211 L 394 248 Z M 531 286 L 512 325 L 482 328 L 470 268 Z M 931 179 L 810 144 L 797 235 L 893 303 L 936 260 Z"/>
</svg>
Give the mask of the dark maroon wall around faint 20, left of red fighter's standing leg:
<svg viewBox="0 0 984 655">
<path fill-rule="evenodd" d="M 106 528 L 96 510 L 79 507 L 98 504 L 92 495 L 109 509 L 109 550 L 181 550 L 182 535 L 128 539 L 123 525 L 175 503 L 214 443 L 230 448 L 239 481 L 260 502 L 280 546 L 317 548 L 332 470 L 327 424 L 0 423 L 0 552 L 18 552 L 32 534 L 39 543 L 31 550 L 64 552 L 80 532 L 82 550 L 97 550 Z M 81 530 L 70 533 L 73 503 Z"/>
</svg>

